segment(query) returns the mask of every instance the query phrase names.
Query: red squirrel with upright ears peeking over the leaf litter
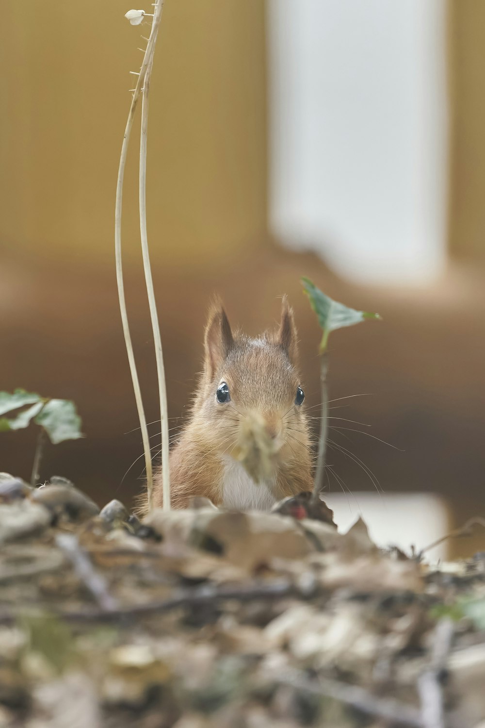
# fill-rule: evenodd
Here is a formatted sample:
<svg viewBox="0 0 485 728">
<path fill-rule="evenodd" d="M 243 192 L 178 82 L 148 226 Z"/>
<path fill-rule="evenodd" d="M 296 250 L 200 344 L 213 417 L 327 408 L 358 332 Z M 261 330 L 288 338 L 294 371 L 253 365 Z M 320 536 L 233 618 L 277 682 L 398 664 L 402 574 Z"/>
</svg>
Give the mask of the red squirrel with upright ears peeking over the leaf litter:
<svg viewBox="0 0 485 728">
<path fill-rule="evenodd" d="M 190 419 L 170 454 L 172 507 L 188 507 L 193 496 L 203 496 L 235 510 L 270 510 L 285 496 L 311 491 L 304 399 L 286 296 L 278 330 L 257 339 L 233 333 L 217 299 Z M 163 504 L 161 469 L 153 503 Z"/>
</svg>

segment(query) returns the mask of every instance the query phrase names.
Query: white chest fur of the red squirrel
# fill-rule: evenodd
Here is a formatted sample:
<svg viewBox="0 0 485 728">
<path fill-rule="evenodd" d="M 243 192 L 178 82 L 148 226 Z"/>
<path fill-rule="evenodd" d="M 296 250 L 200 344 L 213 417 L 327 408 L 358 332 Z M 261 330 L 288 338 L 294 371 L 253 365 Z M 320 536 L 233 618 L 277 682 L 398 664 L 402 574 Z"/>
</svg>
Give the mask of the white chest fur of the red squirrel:
<svg viewBox="0 0 485 728">
<path fill-rule="evenodd" d="M 236 510 L 270 510 L 276 499 L 266 483 L 254 483 L 244 467 L 230 455 L 223 456 L 223 505 Z"/>
</svg>

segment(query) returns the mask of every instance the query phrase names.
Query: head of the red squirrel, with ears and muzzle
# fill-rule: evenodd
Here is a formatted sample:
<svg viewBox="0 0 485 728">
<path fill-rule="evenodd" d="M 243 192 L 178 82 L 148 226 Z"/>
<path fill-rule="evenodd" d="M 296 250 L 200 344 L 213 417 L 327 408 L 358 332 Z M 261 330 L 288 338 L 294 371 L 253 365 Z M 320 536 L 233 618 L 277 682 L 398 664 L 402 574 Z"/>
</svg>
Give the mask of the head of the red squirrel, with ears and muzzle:
<svg viewBox="0 0 485 728">
<path fill-rule="evenodd" d="M 297 331 L 286 296 L 276 331 L 249 339 L 231 331 L 222 304 L 209 312 L 204 374 L 196 414 L 211 448 L 258 459 L 256 480 L 278 463 L 308 457 L 305 394 L 298 373 Z"/>
</svg>

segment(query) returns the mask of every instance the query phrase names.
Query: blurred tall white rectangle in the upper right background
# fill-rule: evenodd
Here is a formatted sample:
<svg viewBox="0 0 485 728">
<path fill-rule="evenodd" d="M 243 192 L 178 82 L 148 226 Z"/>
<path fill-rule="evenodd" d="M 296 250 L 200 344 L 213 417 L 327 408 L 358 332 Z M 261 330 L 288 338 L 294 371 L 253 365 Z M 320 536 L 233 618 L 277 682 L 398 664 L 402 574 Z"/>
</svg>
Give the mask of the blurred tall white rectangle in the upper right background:
<svg viewBox="0 0 485 728">
<path fill-rule="evenodd" d="M 268 0 L 270 227 L 361 282 L 445 261 L 444 0 Z"/>
</svg>

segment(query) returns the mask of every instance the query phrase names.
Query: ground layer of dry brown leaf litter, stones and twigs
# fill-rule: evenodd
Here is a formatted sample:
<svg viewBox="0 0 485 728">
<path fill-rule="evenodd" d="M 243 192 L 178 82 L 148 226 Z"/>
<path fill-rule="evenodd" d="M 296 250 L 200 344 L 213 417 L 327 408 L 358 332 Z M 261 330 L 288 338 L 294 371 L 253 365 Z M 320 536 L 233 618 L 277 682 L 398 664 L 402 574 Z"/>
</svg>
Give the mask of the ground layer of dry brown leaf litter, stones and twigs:
<svg viewBox="0 0 485 728">
<path fill-rule="evenodd" d="M 484 725 L 485 553 L 431 566 L 305 496 L 140 521 L 8 474 L 0 544 L 0 728 Z"/>
</svg>

